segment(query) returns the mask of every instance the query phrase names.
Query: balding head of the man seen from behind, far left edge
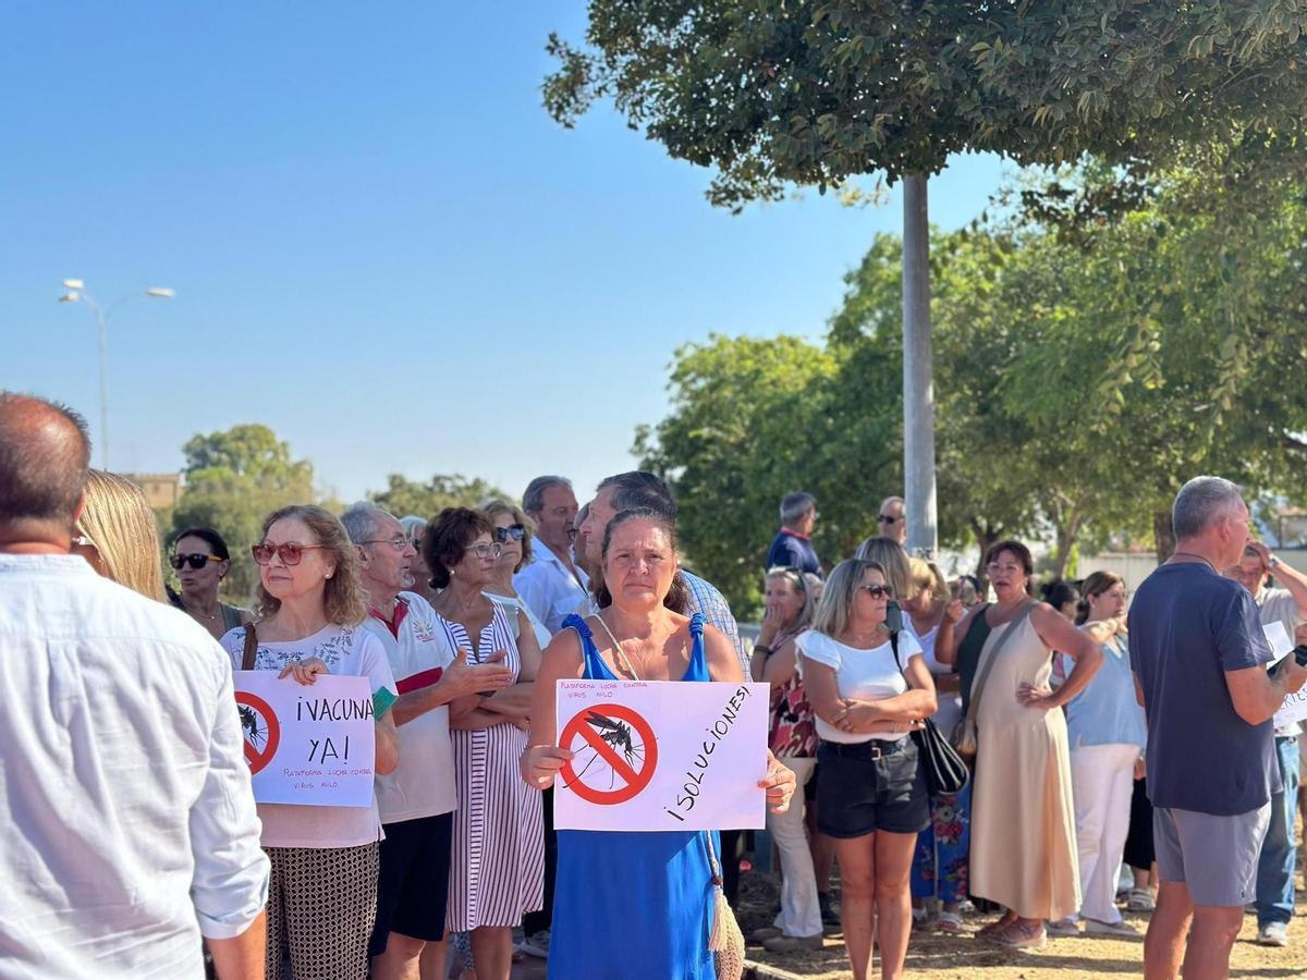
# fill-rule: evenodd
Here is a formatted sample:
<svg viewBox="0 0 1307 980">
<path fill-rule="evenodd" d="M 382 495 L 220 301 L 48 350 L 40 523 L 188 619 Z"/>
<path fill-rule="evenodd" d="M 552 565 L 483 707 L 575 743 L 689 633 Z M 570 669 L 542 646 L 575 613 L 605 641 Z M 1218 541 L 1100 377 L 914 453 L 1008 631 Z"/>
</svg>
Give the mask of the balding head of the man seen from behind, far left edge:
<svg viewBox="0 0 1307 980">
<path fill-rule="evenodd" d="M 69 408 L 0 391 L 0 528 L 71 527 L 90 466 L 86 422 Z"/>
</svg>

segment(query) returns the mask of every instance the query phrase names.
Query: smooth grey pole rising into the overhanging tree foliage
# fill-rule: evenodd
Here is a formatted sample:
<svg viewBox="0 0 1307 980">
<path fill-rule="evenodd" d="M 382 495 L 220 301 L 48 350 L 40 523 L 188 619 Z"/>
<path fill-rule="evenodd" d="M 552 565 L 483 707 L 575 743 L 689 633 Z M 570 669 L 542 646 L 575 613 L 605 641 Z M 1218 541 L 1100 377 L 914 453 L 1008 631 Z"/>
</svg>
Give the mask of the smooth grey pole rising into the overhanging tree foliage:
<svg viewBox="0 0 1307 980">
<path fill-rule="evenodd" d="M 903 497 L 907 547 L 935 557 L 935 383 L 931 365 L 931 225 L 927 176 L 903 178 Z"/>
</svg>

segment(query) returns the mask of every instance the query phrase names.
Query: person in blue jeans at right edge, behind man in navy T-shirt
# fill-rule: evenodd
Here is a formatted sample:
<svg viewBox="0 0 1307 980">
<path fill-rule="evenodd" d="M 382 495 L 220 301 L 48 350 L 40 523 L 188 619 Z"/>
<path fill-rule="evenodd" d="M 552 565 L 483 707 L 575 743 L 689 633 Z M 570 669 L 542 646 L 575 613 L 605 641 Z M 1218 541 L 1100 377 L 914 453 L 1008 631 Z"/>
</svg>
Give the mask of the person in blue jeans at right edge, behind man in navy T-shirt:
<svg viewBox="0 0 1307 980">
<path fill-rule="evenodd" d="M 1257 604 L 1263 627 L 1283 626 L 1285 642 L 1307 619 L 1307 576 L 1285 564 L 1261 541 L 1249 541 L 1243 558 L 1227 575 L 1239 581 Z M 1283 588 L 1266 588 L 1270 575 Z M 1294 873 L 1298 847 L 1294 843 L 1294 809 L 1298 801 L 1298 734 L 1302 725 L 1290 721 L 1276 728 L 1276 764 L 1282 789 L 1270 796 L 1270 826 L 1257 858 L 1257 942 L 1287 946 L 1294 917 Z"/>
</svg>

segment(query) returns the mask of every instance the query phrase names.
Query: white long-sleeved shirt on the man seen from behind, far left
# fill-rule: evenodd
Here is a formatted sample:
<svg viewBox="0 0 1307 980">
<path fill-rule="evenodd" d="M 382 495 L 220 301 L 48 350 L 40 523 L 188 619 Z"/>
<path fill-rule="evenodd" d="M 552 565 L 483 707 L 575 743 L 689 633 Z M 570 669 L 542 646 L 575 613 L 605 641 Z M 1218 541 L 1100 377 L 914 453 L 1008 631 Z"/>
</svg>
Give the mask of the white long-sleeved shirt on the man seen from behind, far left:
<svg viewBox="0 0 1307 980">
<path fill-rule="evenodd" d="M 0 555 L 0 975 L 203 977 L 268 896 L 231 668 L 77 555 Z"/>
</svg>

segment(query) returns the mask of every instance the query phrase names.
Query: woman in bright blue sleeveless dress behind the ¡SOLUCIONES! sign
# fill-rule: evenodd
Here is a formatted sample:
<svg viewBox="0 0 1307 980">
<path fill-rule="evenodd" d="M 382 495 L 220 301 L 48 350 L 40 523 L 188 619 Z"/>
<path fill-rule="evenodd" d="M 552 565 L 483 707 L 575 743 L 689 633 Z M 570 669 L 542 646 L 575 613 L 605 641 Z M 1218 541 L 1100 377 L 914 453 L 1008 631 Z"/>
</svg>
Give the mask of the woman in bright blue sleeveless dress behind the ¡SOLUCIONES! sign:
<svg viewBox="0 0 1307 980">
<path fill-rule="evenodd" d="M 652 510 L 617 514 L 604 531 L 600 613 L 571 615 L 545 651 L 531 711 L 525 781 L 553 784 L 572 753 L 557 745 L 559 679 L 744 681 L 732 643 L 681 614 L 676 529 Z M 761 749 L 762 746 L 759 746 Z M 767 801 L 784 810 L 793 774 L 769 751 Z M 549 976 L 712 980 L 708 938 L 716 841 L 702 831 L 559 831 Z"/>
</svg>

